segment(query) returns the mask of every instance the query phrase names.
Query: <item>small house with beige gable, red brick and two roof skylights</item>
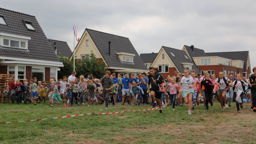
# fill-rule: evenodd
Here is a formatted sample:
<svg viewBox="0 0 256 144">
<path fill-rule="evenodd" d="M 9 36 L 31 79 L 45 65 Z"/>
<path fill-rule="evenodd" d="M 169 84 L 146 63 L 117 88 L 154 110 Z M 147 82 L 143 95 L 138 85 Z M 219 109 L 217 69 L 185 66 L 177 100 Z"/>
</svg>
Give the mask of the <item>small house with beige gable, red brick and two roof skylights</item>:
<svg viewBox="0 0 256 144">
<path fill-rule="evenodd" d="M 162 46 L 150 67 L 158 69 L 164 78 L 168 75 L 174 76 L 175 71 L 184 73 L 185 67 L 188 67 L 190 70 L 195 69 L 196 73 L 199 73 L 185 51 L 165 46 Z"/>
</svg>

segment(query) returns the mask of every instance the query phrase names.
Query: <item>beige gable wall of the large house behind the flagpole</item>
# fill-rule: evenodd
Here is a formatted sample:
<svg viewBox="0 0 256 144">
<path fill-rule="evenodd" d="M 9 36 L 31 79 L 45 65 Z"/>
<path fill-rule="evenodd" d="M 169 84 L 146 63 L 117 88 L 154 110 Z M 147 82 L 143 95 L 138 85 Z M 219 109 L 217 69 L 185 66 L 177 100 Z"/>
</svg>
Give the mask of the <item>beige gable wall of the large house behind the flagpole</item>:
<svg viewBox="0 0 256 144">
<path fill-rule="evenodd" d="M 89 47 L 86 47 L 86 40 L 89 40 Z M 100 53 L 98 52 L 96 46 L 93 43 L 93 40 L 90 38 L 89 34 L 86 32 L 84 37 L 80 40 L 79 45 L 77 45 L 75 50 L 75 55 L 77 59 L 81 59 L 81 55 L 90 54 L 91 51 L 95 54 L 96 58 L 101 58 Z"/>
</svg>

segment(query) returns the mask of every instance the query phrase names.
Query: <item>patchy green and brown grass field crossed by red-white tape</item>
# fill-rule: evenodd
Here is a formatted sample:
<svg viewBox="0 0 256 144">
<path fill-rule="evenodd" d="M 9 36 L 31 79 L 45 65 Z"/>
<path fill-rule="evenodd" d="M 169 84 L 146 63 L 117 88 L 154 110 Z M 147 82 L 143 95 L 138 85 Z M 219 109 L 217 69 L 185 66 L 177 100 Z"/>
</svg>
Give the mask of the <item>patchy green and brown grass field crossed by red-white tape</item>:
<svg viewBox="0 0 256 144">
<path fill-rule="evenodd" d="M 137 110 L 147 106 L 109 106 L 108 112 Z M 105 112 L 103 105 L 49 107 L 46 104 L 0 104 L 0 143 L 256 143 L 256 113 L 244 104 L 237 113 L 235 103 L 221 112 L 217 102 L 205 111 L 203 104 L 192 115 L 188 107 L 85 115 L 63 119 L 57 116 Z"/>
</svg>

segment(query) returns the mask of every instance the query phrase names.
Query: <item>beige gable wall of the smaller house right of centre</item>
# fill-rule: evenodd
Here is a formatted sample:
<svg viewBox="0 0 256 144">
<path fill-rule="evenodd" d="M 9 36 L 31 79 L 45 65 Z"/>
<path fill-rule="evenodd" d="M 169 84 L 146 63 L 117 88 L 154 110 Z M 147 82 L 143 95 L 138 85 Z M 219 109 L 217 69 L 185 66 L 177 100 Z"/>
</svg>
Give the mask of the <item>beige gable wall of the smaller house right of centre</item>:
<svg viewBox="0 0 256 144">
<path fill-rule="evenodd" d="M 164 59 L 162 59 L 162 54 L 165 54 L 165 58 Z M 158 68 L 158 65 L 162 65 L 162 64 L 168 64 L 168 67 L 175 67 L 174 64 L 172 64 L 168 54 L 163 50 L 163 48 L 158 53 L 155 61 L 152 64 L 152 67 Z"/>
</svg>

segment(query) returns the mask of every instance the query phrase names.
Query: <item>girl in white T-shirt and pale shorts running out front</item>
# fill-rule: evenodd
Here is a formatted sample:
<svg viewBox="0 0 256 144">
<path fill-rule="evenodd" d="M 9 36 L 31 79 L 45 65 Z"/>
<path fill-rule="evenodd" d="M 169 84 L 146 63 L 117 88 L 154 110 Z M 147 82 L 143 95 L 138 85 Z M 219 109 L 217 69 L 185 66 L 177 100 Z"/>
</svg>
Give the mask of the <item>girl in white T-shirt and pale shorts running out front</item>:
<svg viewBox="0 0 256 144">
<path fill-rule="evenodd" d="M 180 80 L 180 94 L 184 98 L 185 103 L 188 104 L 188 114 L 191 115 L 195 82 L 193 77 L 189 76 L 189 69 L 184 69 L 184 75 Z"/>
</svg>

